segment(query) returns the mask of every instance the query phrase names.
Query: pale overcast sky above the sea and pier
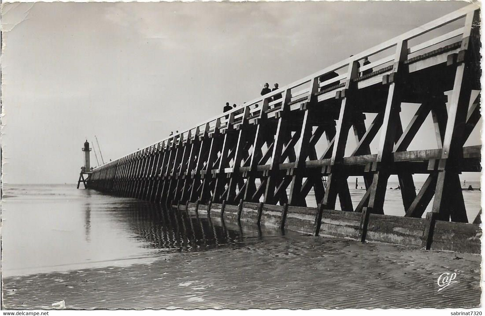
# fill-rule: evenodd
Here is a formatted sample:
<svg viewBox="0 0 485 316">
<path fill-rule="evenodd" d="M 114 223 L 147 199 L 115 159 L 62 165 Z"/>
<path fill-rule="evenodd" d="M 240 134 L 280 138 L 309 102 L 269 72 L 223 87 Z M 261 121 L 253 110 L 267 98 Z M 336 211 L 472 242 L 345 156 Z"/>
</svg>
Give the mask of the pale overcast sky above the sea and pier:
<svg viewBox="0 0 485 316">
<path fill-rule="evenodd" d="M 86 138 L 114 160 L 467 4 L 4 4 L 3 181 L 72 183 Z"/>
</svg>

